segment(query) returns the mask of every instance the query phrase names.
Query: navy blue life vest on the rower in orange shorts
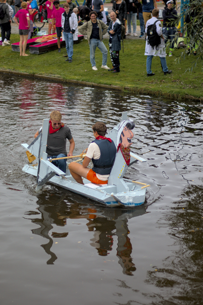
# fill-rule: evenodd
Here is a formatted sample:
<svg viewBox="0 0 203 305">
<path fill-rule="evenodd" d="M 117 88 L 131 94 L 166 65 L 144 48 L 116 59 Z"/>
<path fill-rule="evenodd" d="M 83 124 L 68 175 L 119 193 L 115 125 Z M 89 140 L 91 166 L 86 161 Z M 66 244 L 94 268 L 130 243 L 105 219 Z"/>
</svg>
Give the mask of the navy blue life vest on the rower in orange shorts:
<svg viewBox="0 0 203 305">
<path fill-rule="evenodd" d="M 116 146 L 114 142 L 108 140 L 94 140 L 92 143 L 96 143 L 100 149 L 100 158 L 95 160 L 92 158 L 93 168 L 92 170 L 100 175 L 109 175 L 114 165 L 116 157 Z"/>
</svg>

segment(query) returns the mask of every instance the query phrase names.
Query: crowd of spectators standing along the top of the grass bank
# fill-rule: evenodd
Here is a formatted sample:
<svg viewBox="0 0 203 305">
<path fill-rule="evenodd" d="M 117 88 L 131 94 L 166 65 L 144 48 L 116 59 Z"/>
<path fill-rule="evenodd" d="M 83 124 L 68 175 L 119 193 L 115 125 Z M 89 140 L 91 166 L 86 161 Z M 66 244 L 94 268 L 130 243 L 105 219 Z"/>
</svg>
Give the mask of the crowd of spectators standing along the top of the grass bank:
<svg viewBox="0 0 203 305">
<path fill-rule="evenodd" d="M 36 7 L 36 0 L 28 0 L 27 2 L 22 2 L 22 0 L 8 1 L 9 3 L 7 3 L 7 0 L 0 0 L 2 46 L 10 45 L 11 22 L 16 22 L 19 25 L 20 55 L 26 56 L 26 43 L 27 39 L 30 39 L 33 34 L 33 16 L 38 10 L 38 6 Z M 43 3 L 45 3 L 45 0 L 42 0 L 40 4 L 42 5 Z M 174 8 L 177 7 L 177 2 L 176 0 L 163 0 L 162 3 L 165 4 L 162 13 L 163 28 L 157 33 L 163 38 L 163 44 L 166 44 L 168 40 L 171 42 L 169 56 L 172 56 L 174 50 L 173 38 L 177 30 L 175 24 L 168 26 L 168 22 L 178 18 L 177 11 Z M 63 36 L 66 44 L 67 62 L 72 63 L 73 61 L 73 44 L 74 40 L 78 39 L 79 31 L 79 33 L 87 37 L 90 46 L 92 69 L 94 71 L 97 70 L 94 54 L 96 47 L 98 47 L 103 54 L 101 68 L 108 69 L 114 73 L 120 72 L 119 51 L 121 50 L 121 38 L 131 34 L 134 37 L 138 36 L 137 18 L 139 18 L 140 38 L 145 37 L 146 39 L 147 27 L 152 24 L 148 21 L 152 18 L 154 8 L 157 10 L 156 0 L 112 0 L 112 13 L 110 18 L 109 16 L 107 18 L 103 0 L 87 0 L 85 6 L 79 7 L 76 7 L 72 0 L 66 0 L 63 5 L 60 5 L 59 0 L 47 0 L 45 5 L 49 24 L 48 34 L 56 32 L 58 52 L 60 52 L 60 37 L 61 35 Z M 82 26 L 78 27 L 81 24 Z M 161 23 L 159 26 L 161 26 Z M 126 29 L 123 37 L 121 35 L 122 27 Z M 109 49 L 113 68 L 107 66 L 108 51 L 102 41 L 103 35 L 107 32 L 110 35 Z M 149 41 L 146 40 L 146 47 L 147 44 L 149 45 Z M 149 71 L 151 70 L 148 69 Z"/>
</svg>

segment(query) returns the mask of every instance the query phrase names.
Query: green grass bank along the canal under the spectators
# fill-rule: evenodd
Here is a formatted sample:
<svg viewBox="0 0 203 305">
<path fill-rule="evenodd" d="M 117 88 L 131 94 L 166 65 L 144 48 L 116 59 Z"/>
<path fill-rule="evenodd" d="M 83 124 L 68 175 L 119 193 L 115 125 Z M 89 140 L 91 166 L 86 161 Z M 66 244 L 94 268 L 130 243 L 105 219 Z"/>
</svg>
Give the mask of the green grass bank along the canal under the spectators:
<svg viewBox="0 0 203 305">
<path fill-rule="evenodd" d="M 18 35 L 11 35 L 11 43 L 19 41 Z M 104 43 L 108 48 L 108 40 Z M 187 99 L 189 96 L 203 99 L 203 72 L 202 65 L 193 70 L 185 70 L 191 66 L 194 57 L 186 57 L 181 64 L 175 64 L 174 60 L 180 55 L 181 50 L 175 50 L 173 57 L 166 57 L 169 70 L 172 74 L 163 75 L 159 57 L 152 60 L 153 77 L 147 77 L 145 41 L 124 40 L 124 53 L 120 51 L 120 73 L 111 73 L 101 69 L 101 53 L 96 49 L 95 60 L 98 71 L 91 69 L 89 60 L 89 45 L 87 40 L 74 45 L 73 63 L 65 62 L 65 48 L 61 53 L 57 50 L 41 55 L 31 54 L 21 57 L 13 52 L 11 46 L 0 49 L 0 68 L 29 74 L 57 76 L 62 80 L 77 80 L 90 83 L 98 83 L 112 86 L 120 86 L 134 93 L 151 94 L 173 99 Z M 26 51 L 29 53 L 28 51 Z M 109 67 L 111 66 L 108 56 Z M 127 87 L 127 88 L 126 88 Z"/>
</svg>

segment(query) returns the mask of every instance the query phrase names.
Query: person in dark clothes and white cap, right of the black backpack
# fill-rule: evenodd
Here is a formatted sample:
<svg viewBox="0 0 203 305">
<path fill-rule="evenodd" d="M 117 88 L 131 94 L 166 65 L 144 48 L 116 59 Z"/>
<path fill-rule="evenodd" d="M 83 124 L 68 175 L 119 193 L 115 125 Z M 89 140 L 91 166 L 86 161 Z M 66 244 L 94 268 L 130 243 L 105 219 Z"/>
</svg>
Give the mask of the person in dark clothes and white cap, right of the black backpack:
<svg viewBox="0 0 203 305">
<path fill-rule="evenodd" d="M 174 2 L 173 0 L 168 0 L 166 2 L 166 6 L 162 12 L 163 16 L 163 28 L 162 28 L 162 33 L 164 37 L 164 43 L 168 40 L 170 40 L 170 52 L 168 56 L 173 56 L 173 51 L 174 51 L 174 37 L 176 33 L 176 26 L 174 24 L 171 24 L 174 19 L 178 19 L 178 13 L 175 9 L 173 9 Z"/>
</svg>

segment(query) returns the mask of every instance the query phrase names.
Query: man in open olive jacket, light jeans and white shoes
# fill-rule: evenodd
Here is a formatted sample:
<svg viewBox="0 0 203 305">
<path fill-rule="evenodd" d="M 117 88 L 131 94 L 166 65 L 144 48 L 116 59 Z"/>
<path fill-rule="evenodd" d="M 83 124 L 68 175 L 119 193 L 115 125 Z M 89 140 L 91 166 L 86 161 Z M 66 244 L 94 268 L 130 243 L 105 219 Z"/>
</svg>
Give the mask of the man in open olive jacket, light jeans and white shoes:
<svg viewBox="0 0 203 305">
<path fill-rule="evenodd" d="M 82 35 L 87 35 L 87 40 L 89 43 L 89 49 L 90 49 L 90 63 L 92 65 L 92 70 L 97 71 L 96 63 L 95 63 L 95 50 L 96 47 L 101 51 L 102 53 L 102 69 L 109 70 L 110 68 L 107 66 L 107 54 L 108 50 L 106 46 L 104 45 L 103 35 L 107 33 L 108 26 L 101 20 L 96 19 L 97 13 L 92 11 L 89 13 L 90 21 L 84 23 L 78 31 Z"/>
</svg>

